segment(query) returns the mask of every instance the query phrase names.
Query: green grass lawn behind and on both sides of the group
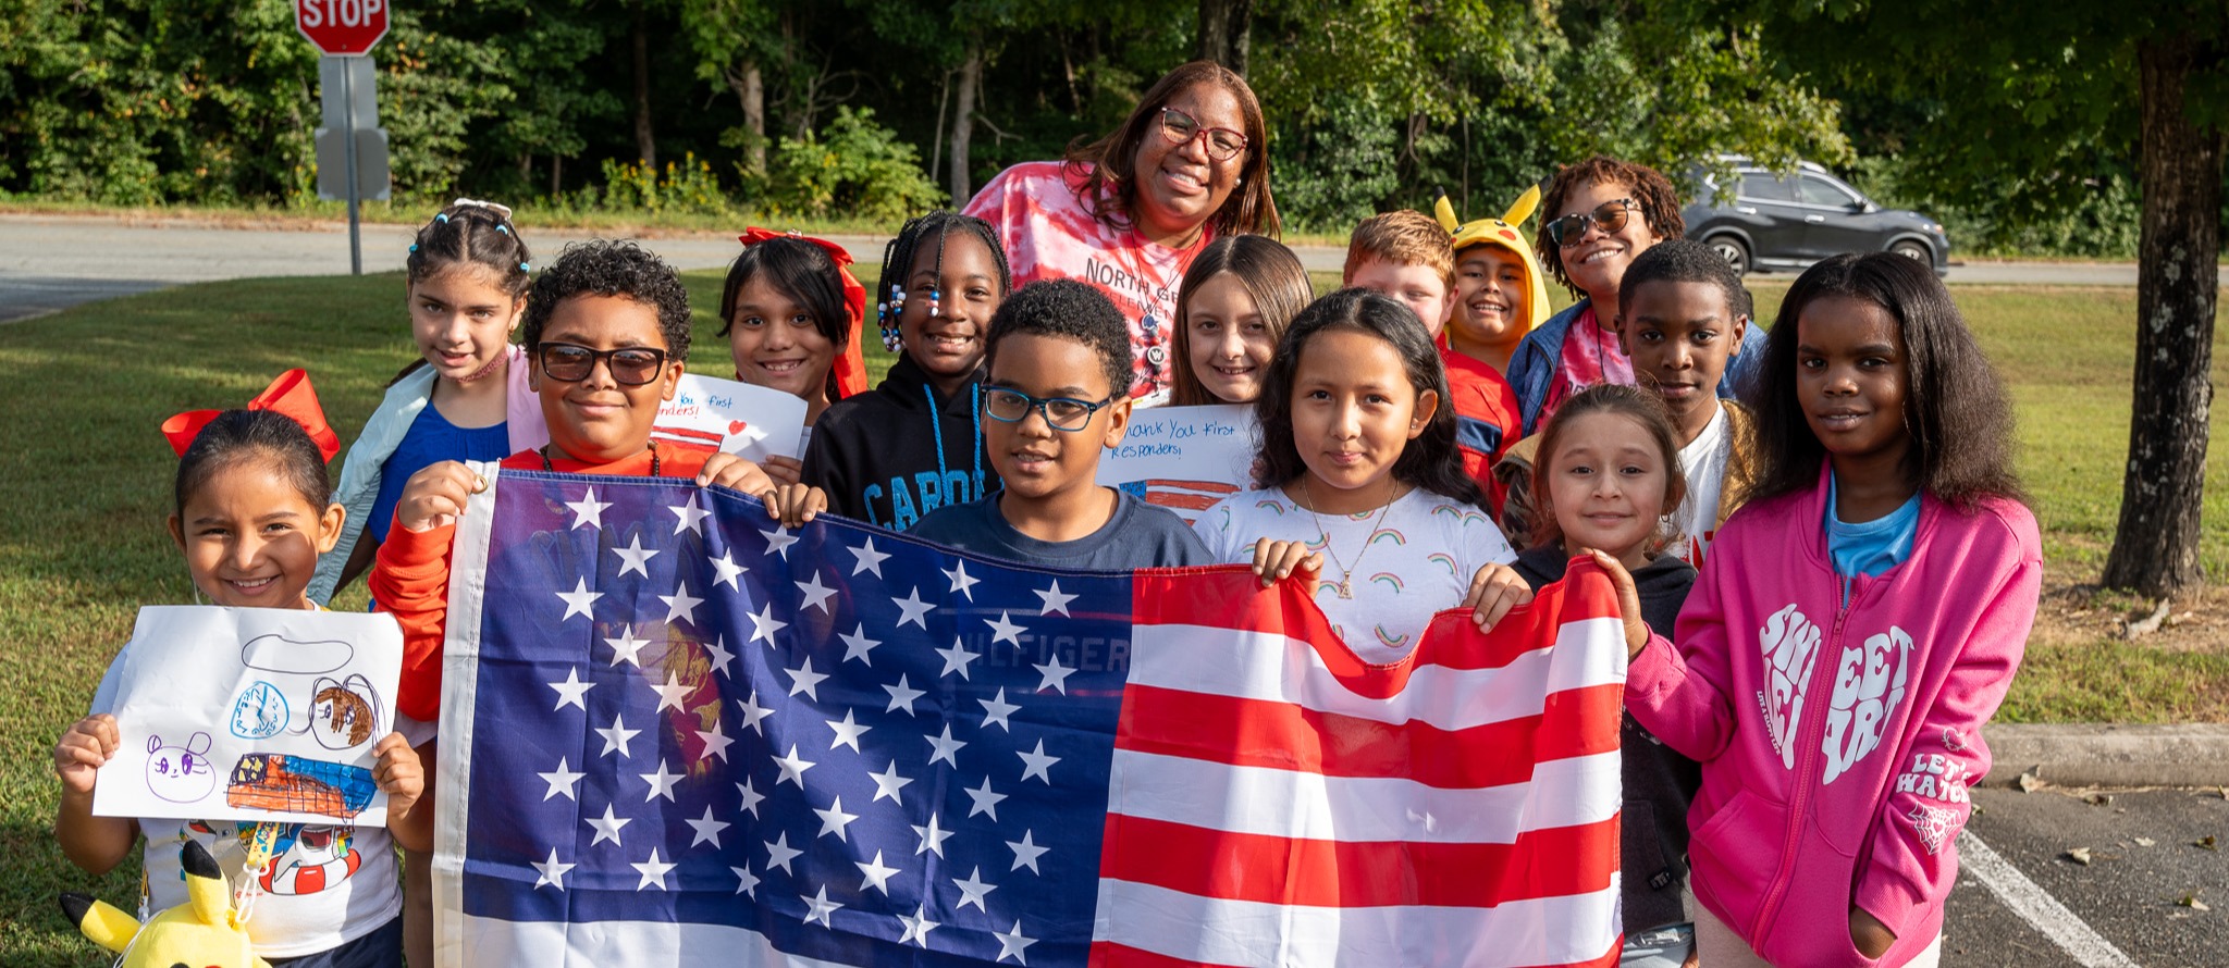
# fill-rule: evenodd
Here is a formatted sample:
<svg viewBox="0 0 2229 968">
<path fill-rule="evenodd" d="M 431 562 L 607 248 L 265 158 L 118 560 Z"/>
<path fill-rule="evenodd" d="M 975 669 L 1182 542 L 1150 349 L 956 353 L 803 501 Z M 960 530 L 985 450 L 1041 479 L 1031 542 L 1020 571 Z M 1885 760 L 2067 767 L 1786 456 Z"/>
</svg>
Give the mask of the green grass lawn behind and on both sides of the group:
<svg viewBox="0 0 2229 968">
<path fill-rule="evenodd" d="M 860 267 L 874 278 L 874 267 Z M 689 274 L 695 303 L 718 274 Z M 1781 287 L 1759 285 L 1761 309 Z M 361 427 L 412 358 L 399 276 L 192 285 L 0 325 L 0 964 L 98 966 L 53 895 L 127 903 L 136 866 L 94 879 L 53 848 L 53 739 L 82 712 L 143 603 L 189 601 L 163 532 L 176 467 L 156 425 L 236 405 L 285 367 L 308 367 L 334 427 Z M 2022 409 L 2022 472 L 2055 583 L 2091 581 L 2113 534 L 2126 447 L 2133 289 L 1959 287 Z M 727 374 L 702 336 L 693 363 Z M 889 356 L 869 334 L 869 369 Z M 2222 425 L 2216 418 L 2216 434 Z M 2222 463 L 2218 463 L 2222 465 Z M 2229 574 L 2229 472 L 2209 476 L 2204 561 Z M 354 592 L 361 608 L 361 590 Z M 348 605 L 350 599 L 343 599 Z M 2229 654 L 2124 643 L 2035 648 L 2004 719 L 2225 719 Z"/>
</svg>

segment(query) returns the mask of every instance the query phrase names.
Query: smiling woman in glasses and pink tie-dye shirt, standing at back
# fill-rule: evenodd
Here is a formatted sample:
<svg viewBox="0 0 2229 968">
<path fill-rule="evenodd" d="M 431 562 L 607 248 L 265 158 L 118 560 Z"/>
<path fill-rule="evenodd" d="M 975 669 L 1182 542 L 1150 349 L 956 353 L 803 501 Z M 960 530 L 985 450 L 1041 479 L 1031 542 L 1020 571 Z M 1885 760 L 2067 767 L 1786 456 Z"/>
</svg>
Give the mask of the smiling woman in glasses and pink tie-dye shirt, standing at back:
<svg viewBox="0 0 2229 968">
<path fill-rule="evenodd" d="M 1168 389 L 1184 269 L 1210 240 L 1275 236 L 1262 105 L 1210 60 L 1168 71 L 1130 118 L 1065 160 L 1001 171 L 967 203 L 987 220 L 1014 287 L 1074 278 L 1108 294 L 1130 325 L 1130 396 Z"/>
</svg>

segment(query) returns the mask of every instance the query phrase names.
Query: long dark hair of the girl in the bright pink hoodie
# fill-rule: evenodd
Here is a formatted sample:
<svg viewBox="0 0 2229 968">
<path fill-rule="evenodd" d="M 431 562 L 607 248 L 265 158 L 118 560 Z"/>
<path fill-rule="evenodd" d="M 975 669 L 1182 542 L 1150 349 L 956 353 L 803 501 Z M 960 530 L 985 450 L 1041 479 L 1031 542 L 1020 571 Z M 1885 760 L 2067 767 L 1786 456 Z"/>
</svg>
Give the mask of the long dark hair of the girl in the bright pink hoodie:
<svg viewBox="0 0 2229 968">
<path fill-rule="evenodd" d="M 1904 338 L 1904 425 L 1919 490 L 1959 510 L 1984 498 L 2024 501 L 2013 474 L 2013 407 L 1950 292 L 1926 265 L 1872 251 L 1828 258 L 1797 278 L 1756 369 L 1756 456 L 1750 501 L 1819 485 L 1826 447 L 1797 396 L 1797 320 L 1821 298 L 1857 298 L 1886 309 Z"/>
</svg>

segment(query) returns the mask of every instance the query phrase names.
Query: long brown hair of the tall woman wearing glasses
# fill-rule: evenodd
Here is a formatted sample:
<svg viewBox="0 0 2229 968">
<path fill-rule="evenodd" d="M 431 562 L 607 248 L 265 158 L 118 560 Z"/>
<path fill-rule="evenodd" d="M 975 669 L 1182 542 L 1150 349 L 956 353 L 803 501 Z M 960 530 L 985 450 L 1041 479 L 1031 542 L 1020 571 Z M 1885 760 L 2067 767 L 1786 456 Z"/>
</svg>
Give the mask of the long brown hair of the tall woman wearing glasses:
<svg viewBox="0 0 2229 968">
<path fill-rule="evenodd" d="M 1262 102 L 1255 100 L 1253 87 L 1246 87 L 1246 78 L 1213 60 L 1193 60 L 1164 73 L 1137 100 L 1130 118 L 1106 138 L 1094 142 L 1077 138 L 1068 145 L 1068 171 L 1083 180 L 1077 189 L 1083 211 L 1112 227 L 1130 227 L 1137 220 L 1137 174 L 1130 171 L 1137 147 L 1146 138 L 1159 138 L 1161 109 L 1197 85 L 1230 91 L 1239 102 L 1239 116 L 1246 118 L 1246 165 L 1239 167 L 1239 185 L 1224 198 L 1224 207 L 1208 216 L 1208 225 L 1217 236 L 1277 236 L 1284 223 L 1268 194 L 1268 122 L 1262 120 Z"/>
</svg>

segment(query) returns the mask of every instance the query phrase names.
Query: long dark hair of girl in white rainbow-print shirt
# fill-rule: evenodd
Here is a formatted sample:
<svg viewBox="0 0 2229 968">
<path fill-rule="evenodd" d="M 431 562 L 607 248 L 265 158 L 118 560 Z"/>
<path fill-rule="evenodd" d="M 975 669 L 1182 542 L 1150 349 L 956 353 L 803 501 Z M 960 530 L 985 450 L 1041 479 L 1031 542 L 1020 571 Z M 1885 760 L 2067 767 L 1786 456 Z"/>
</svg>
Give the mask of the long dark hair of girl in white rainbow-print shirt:
<svg viewBox="0 0 2229 968">
<path fill-rule="evenodd" d="M 1308 340 L 1331 329 L 1353 329 L 1386 340 L 1400 354 L 1402 369 L 1418 396 L 1429 389 L 1440 401 L 1431 421 L 1424 423 L 1424 432 L 1409 441 L 1400 458 L 1393 461 L 1393 478 L 1449 501 L 1476 505 L 1482 494 L 1478 481 L 1462 472 L 1462 452 L 1456 447 L 1456 401 L 1447 394 L 1440 347 L 1431 343 L 1415 309 L 1360 287 L 1308 303 L 1277 340 L 1277 356 L 1268 360 L 1268 374 L 1262 378 L 1262 398 L 1255 401 L 1255 418 L 1262 423 L 1255 487 L 1282 487 L 1308 472 L 1306 461 L 1300 458 L 1300 445 L 1293 441 L 1293 376 L 1300 372 L 1300 354 Z"/>
</svg>

